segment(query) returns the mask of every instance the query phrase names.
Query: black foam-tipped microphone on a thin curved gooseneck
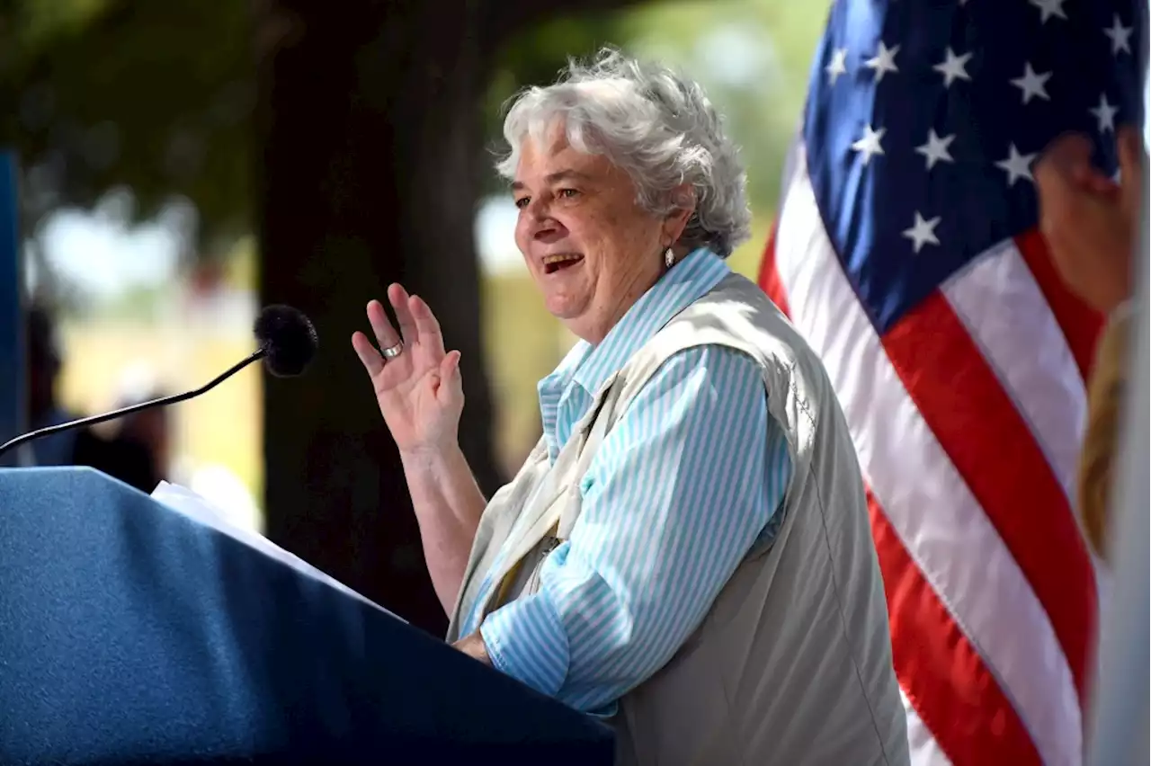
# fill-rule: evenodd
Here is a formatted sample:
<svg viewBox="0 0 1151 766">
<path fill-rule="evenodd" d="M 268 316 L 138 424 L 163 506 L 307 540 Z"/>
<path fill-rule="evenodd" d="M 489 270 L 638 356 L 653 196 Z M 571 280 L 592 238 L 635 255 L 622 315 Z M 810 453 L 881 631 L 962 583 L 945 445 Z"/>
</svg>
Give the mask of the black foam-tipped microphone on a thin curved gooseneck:
<svg viewBox="0 0 1151 766">
<path fill-rule="evenodd" d="M 116 418 L 123 418 L 124 415 L 140 412 L 142 409 L 163 407 L 166 405 L 198 397 L 201 393 L 211 391 L 259 359 L 264 360 L 264 366 L 276 377 L 292 377 L 300 375 L 305 369 L 307 369 L 308 363 L 311 363 L 312 358 L 315 355 L 315 351 L 320 345 L 320 339 L 315 335 L 315 327 L 312 324 L 311 320 L 291 306 L 265 307 L 264 311 L 260 312 L 260 315 L 256 319 L 254 332 L 256 340 L 259 345 L 251 357 L 233 365 L 223 374 L 195 391 L 185 391 L 184 393 L 176 393 L 170 397 L 160 397 L 159 399 L 142 401 L 139 404 L 131 405 L 130 407 L 114 409 L 113 412 L 107 412 L 102 415 L 81 418 L 79 420 L 71 420 L 67 423 L 60 423 L 59 426 L 48 426 L 47 428 L 29 431 L 28 434 L 22 434 L 21 436 L 0 445 L 0 455 L 8 450 L 14 450 L 21 444 L 31 442 L 32 439 L 38 439 L 41 436 L 59 434 L 60 431 L 67 431 L 82 426 L 94 426 L 97 423 L 102 423 L 109 420 L 115 420 Z"/>
</svg>

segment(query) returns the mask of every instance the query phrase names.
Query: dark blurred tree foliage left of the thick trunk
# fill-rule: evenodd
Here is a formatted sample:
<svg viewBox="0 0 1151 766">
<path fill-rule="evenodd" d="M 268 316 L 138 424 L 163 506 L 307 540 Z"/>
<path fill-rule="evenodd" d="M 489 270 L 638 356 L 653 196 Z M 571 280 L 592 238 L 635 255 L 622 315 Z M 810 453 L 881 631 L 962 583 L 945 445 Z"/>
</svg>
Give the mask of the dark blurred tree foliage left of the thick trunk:
<svg viewBox="0 0 1151 766">
<path fill-rule="evenodd" d="M 26 224 L 128 187 L 132 219 L 173 197 L 193 202 L 201 244 L 250 229 L 250 2 L 3 0 L 0 8 L 0 143 L 21 156 Z"/>
</svg>

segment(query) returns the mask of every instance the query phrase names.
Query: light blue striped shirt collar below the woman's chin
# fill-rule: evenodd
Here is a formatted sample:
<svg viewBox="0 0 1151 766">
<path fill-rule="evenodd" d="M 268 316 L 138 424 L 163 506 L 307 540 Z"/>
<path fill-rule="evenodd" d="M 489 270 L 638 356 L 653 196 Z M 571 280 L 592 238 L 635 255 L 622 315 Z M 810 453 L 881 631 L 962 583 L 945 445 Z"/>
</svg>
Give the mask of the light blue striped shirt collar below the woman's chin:
<svg viewBox="0 0 1151 766">
<path fill-rule="evenodd" d="M 640 296 L 599 345 L 580 340 L 544 381 L 570 377 L 595 396 L 640 346 L 730 273 L 727 263 L 707 247 L 693 251 Z"/>
</svg>

